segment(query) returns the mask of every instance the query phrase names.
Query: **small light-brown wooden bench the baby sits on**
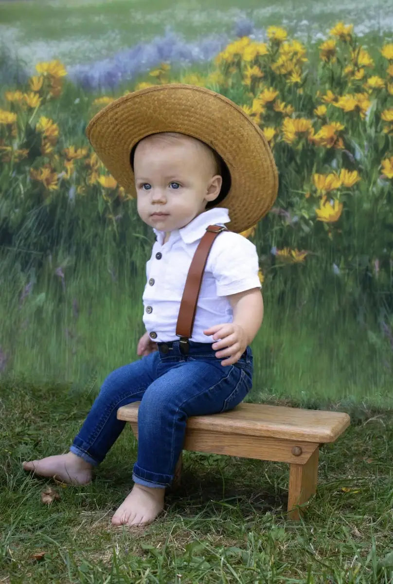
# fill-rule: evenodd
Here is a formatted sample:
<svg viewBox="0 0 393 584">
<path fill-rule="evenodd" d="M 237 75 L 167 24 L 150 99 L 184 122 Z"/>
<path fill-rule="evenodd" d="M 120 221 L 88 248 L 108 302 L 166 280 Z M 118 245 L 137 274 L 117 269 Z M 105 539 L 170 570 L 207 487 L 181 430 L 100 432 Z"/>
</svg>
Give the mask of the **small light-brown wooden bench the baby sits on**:
<svg viewBox="0 0 393 584">
<path fill-rule="evenodd" d="M 117 418 L 130 422 L 135 437 L 139 403 L 117 410 Z M 287 511 L 289 519 L 297 520 L 297 506 L 317 489 L 319 446 L 335 442 L 349 423 L 349 415 L 342 412 L 242 403 L 228 412 L 189 418 L 183 449 L 289 463 Z"/>
</svg>

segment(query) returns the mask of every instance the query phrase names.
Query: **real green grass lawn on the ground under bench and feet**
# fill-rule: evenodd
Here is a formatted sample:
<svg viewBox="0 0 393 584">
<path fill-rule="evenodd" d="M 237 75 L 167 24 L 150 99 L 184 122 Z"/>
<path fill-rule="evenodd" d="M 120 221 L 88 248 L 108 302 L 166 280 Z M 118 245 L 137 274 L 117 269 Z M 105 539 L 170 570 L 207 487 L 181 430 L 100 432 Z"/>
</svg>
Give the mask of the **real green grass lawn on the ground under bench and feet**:
<svg viewBox="0 0 393 584">
<path fill-rule="evenodd" d="M 128 427 L 90 485 L 62 488 L 20 467 L 67 450 L 90 390 L 2 384 L 1 582 L 392 582 L 392 558 L 383 562 L 393 541 L 391 415 L 353 418 L 322 447 L 318 492 L 300 523 L 285 519 L 287 465 L 186 452 L 164 515 L 144 529 L 114 528 L 136 457 Z M 50 506 L 40 502 L 48 485 L 60 495 Z"/>
</svg>

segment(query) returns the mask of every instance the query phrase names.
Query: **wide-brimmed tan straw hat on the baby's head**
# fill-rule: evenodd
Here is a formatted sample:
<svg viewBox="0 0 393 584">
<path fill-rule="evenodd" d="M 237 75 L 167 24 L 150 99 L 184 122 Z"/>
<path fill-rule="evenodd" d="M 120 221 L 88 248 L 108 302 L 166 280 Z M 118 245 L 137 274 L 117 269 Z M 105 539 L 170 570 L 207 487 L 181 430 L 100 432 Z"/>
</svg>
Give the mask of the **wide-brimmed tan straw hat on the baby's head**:
<svg viewBox="0 0 393 584">
<path fill-rule="evenodd" d="M 277 196 L 277 169 L 262 130 L 235 103 L 210 89 L 154 85 L 128 93 L 89 122 L 86 135 L 108 171 L 136 197 L 130 153 L 149 134 L 178 132 L 198 138 L 224 160 L 230 173 L 227 207 L 237 233 L 255 225 Z"/>
</svg>

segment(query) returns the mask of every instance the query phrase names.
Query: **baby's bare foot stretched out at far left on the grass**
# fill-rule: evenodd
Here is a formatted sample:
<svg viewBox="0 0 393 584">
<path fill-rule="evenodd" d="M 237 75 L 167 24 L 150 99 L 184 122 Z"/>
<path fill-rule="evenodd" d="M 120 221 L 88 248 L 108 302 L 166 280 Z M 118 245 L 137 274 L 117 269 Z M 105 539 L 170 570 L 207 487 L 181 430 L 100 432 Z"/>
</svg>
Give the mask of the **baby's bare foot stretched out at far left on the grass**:
<svg viewBox="0 0 393 584">
<path fill-rule="evenodd" d="M 92 478 L 92 465 L 73 452 L 31 460 L 22 465 L 25 471 L 32 471 L 40 477 L 53 477 L 69 485 L 85 485 Z"/>
</svg>

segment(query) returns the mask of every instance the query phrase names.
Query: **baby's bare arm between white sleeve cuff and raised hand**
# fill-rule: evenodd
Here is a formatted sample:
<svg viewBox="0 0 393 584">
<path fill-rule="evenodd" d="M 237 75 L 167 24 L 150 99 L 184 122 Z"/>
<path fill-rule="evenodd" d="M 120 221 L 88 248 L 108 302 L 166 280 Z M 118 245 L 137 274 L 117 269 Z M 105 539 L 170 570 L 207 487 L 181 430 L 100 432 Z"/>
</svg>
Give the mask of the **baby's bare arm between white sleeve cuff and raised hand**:
<svg viewBox="0 0 393 584">
<path fill-rule="evenodd" d="M 251 288 L 227 297 L 234 312 L 233 323 L 240 325 L 249 345 L 263 321 L 263 297 L 260 288 Z"/>
</svg>

